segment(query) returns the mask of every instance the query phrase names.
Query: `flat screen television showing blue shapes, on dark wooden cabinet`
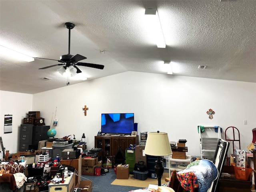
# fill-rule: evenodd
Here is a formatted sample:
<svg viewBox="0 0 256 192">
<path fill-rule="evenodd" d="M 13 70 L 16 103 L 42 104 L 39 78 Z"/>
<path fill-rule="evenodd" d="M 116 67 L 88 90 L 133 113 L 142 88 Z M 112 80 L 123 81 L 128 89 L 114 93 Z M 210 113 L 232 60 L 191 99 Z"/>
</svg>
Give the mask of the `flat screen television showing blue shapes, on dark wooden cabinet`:
<svg viewBox="0 0 256 192">
<path fill-rule="evenodd" d="M 134 131 L 134 113 L 101 114 L 101 132 L 104 134 L 131 134 Z"/>
</svg>

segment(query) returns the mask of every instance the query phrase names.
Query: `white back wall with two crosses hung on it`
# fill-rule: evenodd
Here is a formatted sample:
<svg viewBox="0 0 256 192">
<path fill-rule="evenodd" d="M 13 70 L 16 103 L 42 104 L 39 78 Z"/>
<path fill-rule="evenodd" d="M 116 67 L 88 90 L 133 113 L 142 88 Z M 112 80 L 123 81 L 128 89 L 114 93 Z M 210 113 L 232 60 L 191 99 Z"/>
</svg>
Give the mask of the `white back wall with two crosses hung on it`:
<svg viewBox="0 0 256 192">
<path fill-rule="evenodd" d="M 94 147 L 101 113 L 134 112 L 138 133 L 159 130 L 170 141 L 186 139 L 187 154 L 200 156 L 198 125 L 222 127 L 222 138 L 227 127 L 235 126 L 247 150 L 256 127 L 255 98 L 256 83 L 124 72 L 34 94 L 32 110 L 41 112 L 46 125 L 58 118 L 56 137 L 75 134 L 78 140 L 85 133 L 88 149 Z M 206 114 L 210 108 L 212 120 Z"/>
</svg>

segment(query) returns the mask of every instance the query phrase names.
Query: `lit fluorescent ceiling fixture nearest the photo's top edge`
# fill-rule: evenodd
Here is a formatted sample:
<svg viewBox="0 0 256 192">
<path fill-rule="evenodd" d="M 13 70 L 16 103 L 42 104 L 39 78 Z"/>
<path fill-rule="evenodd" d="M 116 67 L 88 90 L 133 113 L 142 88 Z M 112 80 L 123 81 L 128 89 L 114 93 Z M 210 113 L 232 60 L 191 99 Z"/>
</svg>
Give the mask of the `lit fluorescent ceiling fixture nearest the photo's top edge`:
<svg viewBox="0 0 256 192">
<path fill-rule="evenodd" d="M 152 25 L 152 30 L 154 30 L 153 38 L 156 41 L 156 46 L 158 48 L 166 48 L 164 34 L 162 31 L 162 26 L 160 23 L 160 19 L 159 19 L 157 10 L 156 9 L 146 9 L 145 15 L 150 20 L 150 22 L 148 22 L 148 24 Z"/>
</svg>

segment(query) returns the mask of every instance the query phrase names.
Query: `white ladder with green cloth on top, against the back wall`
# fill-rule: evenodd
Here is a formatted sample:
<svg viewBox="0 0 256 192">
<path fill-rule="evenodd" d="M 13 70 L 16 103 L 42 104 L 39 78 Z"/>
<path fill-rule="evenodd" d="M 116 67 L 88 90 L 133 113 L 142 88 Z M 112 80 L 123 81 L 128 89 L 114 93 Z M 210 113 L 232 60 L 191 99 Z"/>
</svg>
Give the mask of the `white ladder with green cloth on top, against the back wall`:
<svg viewBox="0 0 256 192">
<path fill-rule="evenodd" d="M 221 131 L 219 126 L 213 126 L 213 127 L 203 127 L 204 132 L 207 132 L 207 130 L 214 130 L 218 129 L 218 137 L 204 137 L 204 132 L 201 130 L 202 126 L 198 126 L 198 132 L 199 132 L 199 138 L 200 138 L 200 153 L 201 153 L 201 159 L 203 158 L 203 153 L 204 152 L 215 152 L 216 147 L 218 145 L 219 139 L 221 139 Z"/>
</svg>

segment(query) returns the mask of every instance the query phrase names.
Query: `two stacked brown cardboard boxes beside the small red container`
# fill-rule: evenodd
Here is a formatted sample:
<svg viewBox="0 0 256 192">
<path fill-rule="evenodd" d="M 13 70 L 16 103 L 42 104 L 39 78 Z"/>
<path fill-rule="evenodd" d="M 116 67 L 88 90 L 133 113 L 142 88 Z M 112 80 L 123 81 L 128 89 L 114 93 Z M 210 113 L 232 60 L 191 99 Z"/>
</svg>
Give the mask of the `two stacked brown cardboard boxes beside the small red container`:
<svg viewBox="0 0 256 192">
<path fill-rule="evenodd" d="M 82 174 L 83 175 L 94 175 L 96 166 L 102 166 L 102 161 L 98 161 L 96 158 L 82 158 Z"/>
</svg>

